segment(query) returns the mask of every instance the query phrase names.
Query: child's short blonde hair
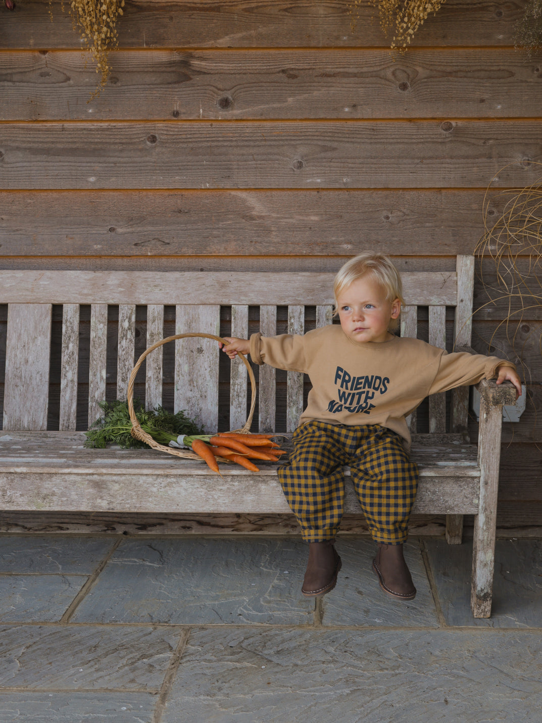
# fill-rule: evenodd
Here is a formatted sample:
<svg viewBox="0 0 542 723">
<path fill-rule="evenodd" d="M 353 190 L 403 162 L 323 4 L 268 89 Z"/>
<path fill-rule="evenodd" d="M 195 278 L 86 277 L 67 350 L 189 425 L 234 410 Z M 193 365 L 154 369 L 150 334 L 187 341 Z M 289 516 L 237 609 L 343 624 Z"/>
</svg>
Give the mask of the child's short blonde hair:
<svg viewBox="0 0 542 723">
<path fill-rule="evenodd" d="M 350 286 L 351 283 L 367 274 L 370 274 L 377 283 L 382 286 L 386 292 L 387 301 L 399 299 L 401 305 L 405 303 L 403 299 L 403 282 L 401 281 L 400 273 L 392 264 L 390 257 L 384 254 L 364 251 L 362 254 L 347 261 L 337 271 L 335 281 L 333 282 L 333 299 L 335 301 L 334 316 L 337 314 L 339 307 L 337 296 L 339 296 L 345 288 Z M 398 319 L 390 320 L 390 330 L 395 331 L 398 326 Z"/>
</svg>

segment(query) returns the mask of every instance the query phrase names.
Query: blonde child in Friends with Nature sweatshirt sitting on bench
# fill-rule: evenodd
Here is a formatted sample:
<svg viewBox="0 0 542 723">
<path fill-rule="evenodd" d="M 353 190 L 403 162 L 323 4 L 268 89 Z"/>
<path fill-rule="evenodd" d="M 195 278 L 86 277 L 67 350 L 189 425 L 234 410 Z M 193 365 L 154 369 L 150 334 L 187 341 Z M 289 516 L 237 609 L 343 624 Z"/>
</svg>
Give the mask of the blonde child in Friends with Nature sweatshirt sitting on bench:
<svg viewBox="0 0 542 723">
<path fill-rule="evenodd" d="M 301 592 L 324 595 L 335 587 L 341 560 L 333 543 L 343 514 L 343 466 L 377 542 L 373 569 L 382 589 L 397 599 L 416 596 L 403 557 L 418 469 L 406 447 L 405 422 L 429 394 L 497 377 L 521 394 L 514 364 L 482 354 L 447 354 L 424 341 L 399 338 L 403 289 L 383 254 L 366 252 L 343 265 L 334 283 L 331 325 L 304 335 L 250 341 L 226 338 L 224 351 L 250 354 L 256 364 L 309 375 L 308 404 L 293 434 L 290 461 L 278 468 L 280 484 L 301 534 L 309 542 Z"/>
</svg>

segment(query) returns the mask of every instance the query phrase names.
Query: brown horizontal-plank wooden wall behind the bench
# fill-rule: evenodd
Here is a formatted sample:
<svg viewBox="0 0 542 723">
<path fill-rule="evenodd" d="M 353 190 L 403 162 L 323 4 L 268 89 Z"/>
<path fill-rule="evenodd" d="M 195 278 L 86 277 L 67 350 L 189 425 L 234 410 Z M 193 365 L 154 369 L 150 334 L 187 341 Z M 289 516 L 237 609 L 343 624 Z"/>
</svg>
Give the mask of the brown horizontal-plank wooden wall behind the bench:
<svg viewBox="0 0 542 723">
<path fill-rule="evenodd" d="M 336 270 L 368 247 L 454 268 L 487 184 L 498 218 L 499 189 L 542 175 L 542 55 L 512 42 L 526 4 L 447 0 L 400 56 L 367 2 L 352 32 L 348 0 L 126 1 L 91 102 L 60 2 L 53 22 L 46 0 L 2 4 L 1 268 Z M 516 333 L 532 372 L 499 526 L 540 526 L 542 312 L 499 328 L 507 304 L 476 299 L 474 346 L 497 330 L 516 360 Z"/>
</svg>

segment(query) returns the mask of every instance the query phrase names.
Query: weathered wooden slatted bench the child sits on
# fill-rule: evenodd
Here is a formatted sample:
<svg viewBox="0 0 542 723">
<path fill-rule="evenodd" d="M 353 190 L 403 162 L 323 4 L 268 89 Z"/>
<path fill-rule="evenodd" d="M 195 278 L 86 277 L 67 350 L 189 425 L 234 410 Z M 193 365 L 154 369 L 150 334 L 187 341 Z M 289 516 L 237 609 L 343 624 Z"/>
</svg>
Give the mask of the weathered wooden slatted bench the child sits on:
<svg viewBox="0 0 542 723">
<path fill-rule="evenodd" d="M 179 460 L 162 452 L 82 448 L 84 433 L 76 431 L 77 398 L 79 393 L 80 403 L 82 391 L 86 397 L 88 389 L 87 419 L 94 422 L 100 416 L 98 403 L 106 398 L 106 368 L 108 354 L 111 357 L 115 351 L 113 346 L 118 349 L 116 392 L 118 398 L 126 398 L 134 366 L 137 307 L 146 307 L 138 311 L 146 318 L 146 346 L 168 335 L 164 333 L 164 307 L 172 305 L 176 307 L 174 333 L 220 335 L 221 307 L 223 311 L 227 307 L 228 315 L 231 312 L 231 330 L 226 328 L 222 335 L 246 337 L 251 307 L 257 307 L 250 313 L 257 316 L 255 323 L 264 335 L 277 333 L 278 310 L 279 317 L 284 316 L 283 307 L 288 307 L 288 331 L 304 333 L 310 326 L 305 324 L 309 317 L 313 326 L 331 322 L 332 279 L 330 273 L 0 271 L 0 302 L 8 304 L 4 424 L 0 433 L 2 508 L 289 513 L 271 464 L 264 463 L 259 474 L 225 466 L 221 479 L 210 473 L 205 463 Z M 401 333 L 416 336 L 419 309 L 420 317 L 429 315 L 429 342 L 446 348 L 447 315 L 450 318 L 453 313 L 454 320 L 448 326 L 453 325 L 455 348 L 468 348 L 473 257 L 457 257 L 455 273 L 405 273 L 403 281 L 407 303 L 401 315 Z M 61 351 L 51 345 L 53 304 L 63 305 Z M 88 379 L 79 378 L 78 371 L 82 305 L 90 305 Z M 118 338 L 110 339 L 109 344 L 108 305 L 118 307 Z M 429 307 L 429 312 L 423 307 Z M 140 386 L 144 383 L 149 407 L 163 400 L 163 348 L 152 351 L 141 369 Z M 60 371 L 54 367 L 59 359 Z M 209 431 L 218 428 L 220 364 L 224 368 L 230 362 L 220 355 L 214 341 L 196 338 L 176 342 L 175 408 L 197 416 Z M 271 367 L 259 368 L 258 424 L 253 430 L 275 431 L 275 377 L 280 374 Z M 50 375 L 60 379 L 54 429 L 51 422 L 48 429 Z M 514 403 L 515 390 L 509 384 L 496 388 L 494 382 L 487 381 L 478 388 L 482 399 L 478 450 L 465 437 L 468 388 L 454 390 L 448 410 L 445 395 L 429 399 L 426 433 L 416 434 L 416 414 L 410 419 L 410 429 L 415 433 L 413 456 L 421 473 L 413 512 L 447 515 L 450 543 L 461 542 L 463 515 L 475 515 L 472 609 L 475 617 L 489 617 L 502 404 Z M 285 431 L 295 429 L 303 404 L 304 377 L 288 372 Z M 231 362 L 229 407 L 229 428 L 241 427 L 247 414 L 247 375 L 238 360 Z M 345 512 L 360 512 L 350 484 Z"/>
</svg>

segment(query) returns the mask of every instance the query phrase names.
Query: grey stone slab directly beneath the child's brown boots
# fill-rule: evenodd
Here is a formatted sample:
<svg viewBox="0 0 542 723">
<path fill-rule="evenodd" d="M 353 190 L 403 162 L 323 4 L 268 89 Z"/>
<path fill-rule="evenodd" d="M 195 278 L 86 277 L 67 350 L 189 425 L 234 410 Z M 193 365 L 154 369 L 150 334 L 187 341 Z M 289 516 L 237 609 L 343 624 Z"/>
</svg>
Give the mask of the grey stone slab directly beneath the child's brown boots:
<svg viewBox="0 0 542 723">
<path fill-rule="evenodd" d="M 371 567 L 376 552 L 374 542 L 338 539 L 335 547 L 343 560 L 343 568 L 335 590 L 322 598 L 323 625 L 439 627 L 417 542 L 405 544 L 405 560 L 418 591 L 416 597 L 408 601 L 394 599 L 380 588 Z"/>
</svg>

